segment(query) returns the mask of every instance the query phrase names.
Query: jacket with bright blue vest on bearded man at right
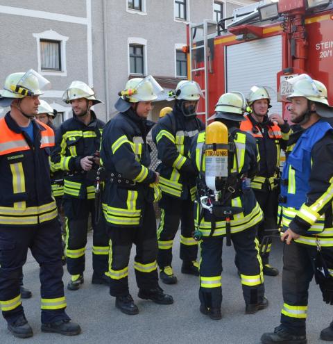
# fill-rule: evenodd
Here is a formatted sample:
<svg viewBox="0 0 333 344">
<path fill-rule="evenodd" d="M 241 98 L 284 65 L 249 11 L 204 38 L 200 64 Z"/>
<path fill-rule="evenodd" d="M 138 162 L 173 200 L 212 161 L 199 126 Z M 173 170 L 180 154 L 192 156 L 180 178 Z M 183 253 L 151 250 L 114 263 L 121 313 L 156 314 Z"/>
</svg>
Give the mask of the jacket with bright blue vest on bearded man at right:
<svg viewBox="0 0 333 344">
<path fill-rule="evenodd" d="M 317 236 L 321 246 L 333 246 L 332 126 L 319 120 L 295 135 L 281 179 L 282 230 L 300 234 L 296 243 L 316 245 Z"/>
</svg>

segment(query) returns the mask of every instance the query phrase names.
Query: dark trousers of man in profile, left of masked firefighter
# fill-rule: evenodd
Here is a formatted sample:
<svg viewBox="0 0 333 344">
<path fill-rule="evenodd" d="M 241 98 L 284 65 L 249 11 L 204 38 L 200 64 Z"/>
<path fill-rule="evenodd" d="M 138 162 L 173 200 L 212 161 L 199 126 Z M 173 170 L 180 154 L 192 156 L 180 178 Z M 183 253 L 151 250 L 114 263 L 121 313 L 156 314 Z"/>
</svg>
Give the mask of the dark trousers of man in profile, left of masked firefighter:
<svg viewBox="0 0 333 344">
<path fill-rule="evenodd" d="M 144 290 L 157 288 L 157 238 L 153 204 L 145 204 L 142 226 L 126 228 L 107 225 L 107 231 L 110 237 L 110 259 L 106 275 L 111 279 L 110 295 L 117 297 L 129 293 L 128 263 L 133 243 L 136 245 L 134 269 L 137 286 Z"/>
</svg>

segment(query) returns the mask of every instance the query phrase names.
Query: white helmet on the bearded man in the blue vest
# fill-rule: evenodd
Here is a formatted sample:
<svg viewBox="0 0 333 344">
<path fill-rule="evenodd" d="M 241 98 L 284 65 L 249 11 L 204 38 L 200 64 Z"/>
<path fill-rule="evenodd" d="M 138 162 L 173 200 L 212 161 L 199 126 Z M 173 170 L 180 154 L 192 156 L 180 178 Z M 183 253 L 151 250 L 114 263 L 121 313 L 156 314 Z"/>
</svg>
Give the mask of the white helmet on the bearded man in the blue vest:
<svg viewBox="0 0 333 344">
<path fill-rule="evenodd" d="M 305 97 L 310 101 L 330 106 L 327 101 L 327 89 L 321 81 L 314 80 L 307 74 L 300 74 L 287 80 L 292 85 L 291 95 L 287 100 L 293 97 Z"/>
</svg>

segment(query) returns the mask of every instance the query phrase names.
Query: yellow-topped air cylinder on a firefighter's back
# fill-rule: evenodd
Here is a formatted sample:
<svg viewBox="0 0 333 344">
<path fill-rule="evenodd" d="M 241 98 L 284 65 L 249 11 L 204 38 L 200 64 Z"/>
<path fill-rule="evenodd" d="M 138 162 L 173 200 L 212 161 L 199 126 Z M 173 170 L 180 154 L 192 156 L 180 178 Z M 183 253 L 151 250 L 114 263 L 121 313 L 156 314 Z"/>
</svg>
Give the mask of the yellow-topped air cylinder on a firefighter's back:
<svg viewBox="0 0 333 344">
<path fill-rule="evenodd" d="M 206 128 L 205 180 L 216 190 L 216 179 L 228 177 L 228 128 L 221 122 L 212 122 Z"/>
</svg>

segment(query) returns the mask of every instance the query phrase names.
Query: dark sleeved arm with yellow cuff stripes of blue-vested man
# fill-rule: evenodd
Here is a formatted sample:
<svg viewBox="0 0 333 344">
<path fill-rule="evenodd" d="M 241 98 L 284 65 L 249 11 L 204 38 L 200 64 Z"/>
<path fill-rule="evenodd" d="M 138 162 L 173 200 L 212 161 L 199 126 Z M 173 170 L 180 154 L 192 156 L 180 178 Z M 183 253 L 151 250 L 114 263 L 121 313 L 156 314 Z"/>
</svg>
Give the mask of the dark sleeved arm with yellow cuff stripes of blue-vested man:
<svg viewBox="0 0 333 344">
<path fill-rule="evenodd" d="M 315 145 L 311 151 L 311 173 L 307 202 L 302 204 L 296 217 L 289 224 L 296 234 L 305 234 L 327 211 L 333 200 L 333 142 Z M 310 230 L 312 231 L 312 230 Z M 313 234 L 318 233 L 314 231 Z"/>
</svg>

